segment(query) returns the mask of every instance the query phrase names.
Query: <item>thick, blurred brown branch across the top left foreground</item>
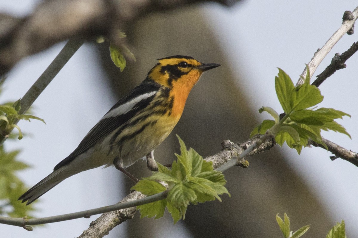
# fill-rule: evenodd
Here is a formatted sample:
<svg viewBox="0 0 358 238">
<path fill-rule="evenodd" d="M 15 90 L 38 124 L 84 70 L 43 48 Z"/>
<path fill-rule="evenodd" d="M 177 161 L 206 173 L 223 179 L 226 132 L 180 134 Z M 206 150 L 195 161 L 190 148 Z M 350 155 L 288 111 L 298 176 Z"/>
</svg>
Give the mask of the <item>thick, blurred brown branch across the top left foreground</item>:
<svg viewBox="0 0 358 238">
<path fill-rule="evenodd" d="M 0 14 L 0 76 L 20 59 L 53 44 L 80 37 L 106 36 L 120 44 L 118 31 L 130 21 L 155 11 L 165 11 L 198 2 L 231 6 L 239 0 L 50 0 L 39 4 L 29 16 Z"/>
</svg>

